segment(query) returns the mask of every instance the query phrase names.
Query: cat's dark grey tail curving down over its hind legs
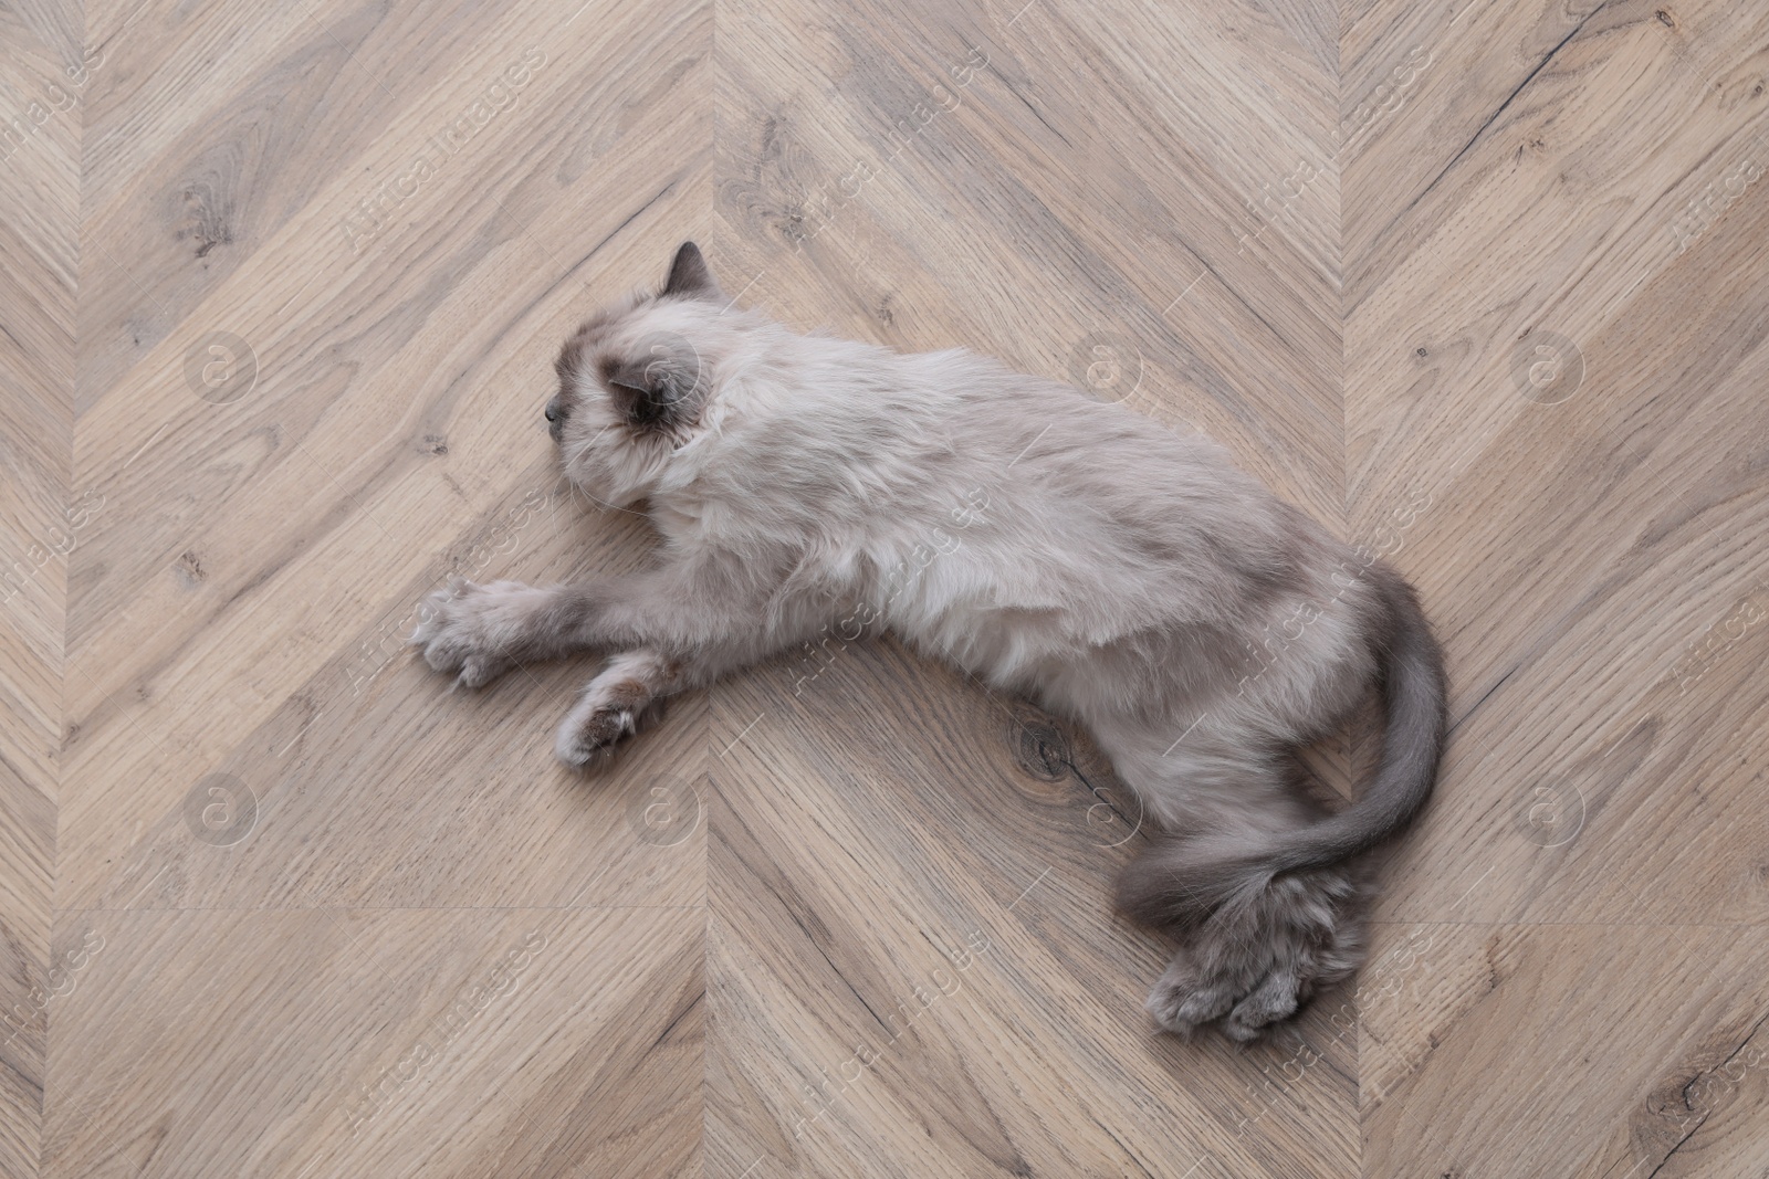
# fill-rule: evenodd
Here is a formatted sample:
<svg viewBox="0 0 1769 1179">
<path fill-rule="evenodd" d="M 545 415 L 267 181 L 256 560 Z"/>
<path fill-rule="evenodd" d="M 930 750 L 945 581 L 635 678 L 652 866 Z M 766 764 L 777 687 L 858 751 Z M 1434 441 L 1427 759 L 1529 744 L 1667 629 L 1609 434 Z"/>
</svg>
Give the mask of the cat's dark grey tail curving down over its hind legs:
<svg viewBox="0 0 1769 1179">
<path fill-rule="evenodd" d="M 1157 928 L 1191 928 L 1219 910 L 1256 905 L 1283 873 L 1329 868 L 1405 829 L 1431 797 L 1445 734 L 1444 652 L 1413 589 L 1387 566 L 1369 567 L 1364 619 L 1387 725 L 1376 772 L 1357 802 L 1307 827 L 1173 838 L 1118 880 L 1118 907 Z"/>
</svg>

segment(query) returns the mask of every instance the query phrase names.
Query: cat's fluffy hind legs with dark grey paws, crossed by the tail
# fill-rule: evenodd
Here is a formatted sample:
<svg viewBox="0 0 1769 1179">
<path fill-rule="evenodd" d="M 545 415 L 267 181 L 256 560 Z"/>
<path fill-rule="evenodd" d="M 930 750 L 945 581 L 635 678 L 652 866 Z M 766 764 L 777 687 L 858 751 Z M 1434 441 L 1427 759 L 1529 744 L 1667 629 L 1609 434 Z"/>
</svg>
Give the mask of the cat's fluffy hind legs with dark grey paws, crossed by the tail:
<svg viewBox="0 0 1769 1179">
<path fill-rule="evenodd" d="M 1291 788 L 1281 748 L 1217 726 L 1122 764 L 1162 831 L 1125 871 L 1120 903 L 1143 919 L 1155 914 L 1180 939 L 1148 995 L 1160 1027 L 1217 1023 L 1233 1039 L 1254 1039 L 1359 967 L 1367 887 L 1357 864 L 1279 873 L 1229 903 L 1175 886 L 1187 857 L 1256 850 L 1318 820 Z"/>
</svg>

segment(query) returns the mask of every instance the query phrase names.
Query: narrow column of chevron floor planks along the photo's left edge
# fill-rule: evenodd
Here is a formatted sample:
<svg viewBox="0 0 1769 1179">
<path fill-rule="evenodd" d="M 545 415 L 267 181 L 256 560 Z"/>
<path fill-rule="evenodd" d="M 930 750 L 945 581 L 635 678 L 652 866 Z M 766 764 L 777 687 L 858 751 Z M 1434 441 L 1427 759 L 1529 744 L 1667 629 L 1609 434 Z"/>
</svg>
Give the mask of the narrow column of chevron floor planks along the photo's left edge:
<svg viewBox="0 0 1769 1179">
<path fill-rule="evenodd" d="M 80 9 L 0 11 L 0 1174 L 37 1172 L 51 1006 L 62 642 L 76 523 Z"/>
</svg>

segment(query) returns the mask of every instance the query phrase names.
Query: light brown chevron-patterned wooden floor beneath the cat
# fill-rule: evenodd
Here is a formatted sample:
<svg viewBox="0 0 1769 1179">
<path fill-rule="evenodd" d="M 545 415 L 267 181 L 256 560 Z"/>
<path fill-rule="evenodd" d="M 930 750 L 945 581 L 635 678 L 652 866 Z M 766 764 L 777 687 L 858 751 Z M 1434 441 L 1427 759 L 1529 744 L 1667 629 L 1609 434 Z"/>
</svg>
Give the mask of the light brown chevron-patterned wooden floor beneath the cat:
<svg viewBox="0 0 1769 1179">
<path fill-rule="evenodd" d="M 1769 9 L 573 4 L 0 5 L 0 1174 L 1769 1175 Z M 646 559 L 540 410 L 688 237 L 1419 583 L 1357 986 L 1152 1034 L 1134 804 L 893 643 L 601 780 L 410 658 Z"/>
</svg>

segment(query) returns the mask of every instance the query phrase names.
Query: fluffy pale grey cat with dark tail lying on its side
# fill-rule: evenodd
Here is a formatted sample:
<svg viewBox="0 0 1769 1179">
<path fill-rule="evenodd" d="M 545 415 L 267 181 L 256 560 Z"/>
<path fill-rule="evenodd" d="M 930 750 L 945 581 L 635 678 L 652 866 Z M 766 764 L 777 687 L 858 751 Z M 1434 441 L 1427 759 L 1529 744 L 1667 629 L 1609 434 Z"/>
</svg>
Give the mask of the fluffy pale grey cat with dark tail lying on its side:
<svg viewBox="0 0 1769 1179">
<path fill-rule="evenodd" d="M 869 603 L 1084 725 L 1136 790 L 1153 829 L 1116 903 L 1178 942 L 1146 1002 L 1160 1027 L 1256 1039 L 1355 972 L 1362 854 L 1426 804 L 1445 732 L 1442 652 L 1389 566 L 1203 437 L 962 348 L 902 355 L 734 309 L 693 242 L 555 369 L 564 475 L 644 500 L 660 557 L 577 585 L 455 582 L 412 635 L 432 668 L 472 688 L 610 656 L 555 742 L 587 765 L 665 696 Z M 1380 762 L 1329 815 L 1295 788 L 1295 751 L 1371 689 Z"/>
</svg>

